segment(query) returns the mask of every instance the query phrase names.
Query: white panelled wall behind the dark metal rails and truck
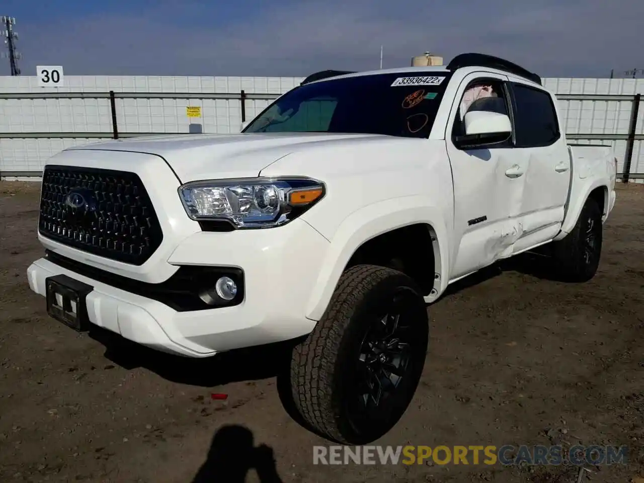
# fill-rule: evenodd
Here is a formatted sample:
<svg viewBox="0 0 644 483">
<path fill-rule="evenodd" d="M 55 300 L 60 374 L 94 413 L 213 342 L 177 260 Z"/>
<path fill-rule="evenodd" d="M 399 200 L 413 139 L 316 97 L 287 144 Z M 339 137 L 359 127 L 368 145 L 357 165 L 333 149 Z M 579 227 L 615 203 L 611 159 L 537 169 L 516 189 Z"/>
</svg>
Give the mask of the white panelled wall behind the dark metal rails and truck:
<svg viewBox="0 0 644 483">
<path fill-rule="evenodd" d="M 0 93 L 40 92 L 162 92 L 281 94 L 302 77 L 173 77 L 173 76 L 66 76 L 64 87 L 41 88 L 37 77 L 0 77 Z M 644 93 L 644 79 L 544 79 L 558 95 L 634 95 Z M 270 100 L 245 101 L 251 119 Z M 644 104 L 642 102 L 641 104 Z M 202 117 L 188 118 L 186 106 L 200 106 Z M 567 134 L 625 135 L 629 131 L 632 102 L 628 100 L 560 100 Z M 120 133 L 188 133 L 189 124 L 202 124 L 204 133 L 238 132 L 242 122 L 239 99 L 116 99 Z M 111 133 L 109 99 L 0 99 L 0 133 Z M 644 105 L 639 108 L 638 135 L 644 135 Z M 37 172 L 46 160 L 65 147 L 99 139 L 0 138 L 0 172 Z M 612 144 L 623 169 L 626 140 L 575 140 Z M 636 140 L 630 173 L 644 174 L 644 141 Z M 643 181 L 639 179 L 638 181 Z"/>
</svg>

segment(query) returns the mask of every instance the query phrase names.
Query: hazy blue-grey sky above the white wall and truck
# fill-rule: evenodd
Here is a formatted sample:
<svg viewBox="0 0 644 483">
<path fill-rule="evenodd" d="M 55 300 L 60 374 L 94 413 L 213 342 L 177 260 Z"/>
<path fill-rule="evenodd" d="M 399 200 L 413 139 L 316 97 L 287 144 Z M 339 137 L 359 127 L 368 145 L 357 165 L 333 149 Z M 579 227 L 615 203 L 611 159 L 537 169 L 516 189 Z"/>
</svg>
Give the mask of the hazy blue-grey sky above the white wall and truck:
<svg viewBox="0 0 644 483">
<path fill-rule="evenodd" d="M 506 57 L 544 77 L 644 68 L 643 0 L 3 0 L 23 75 L 305 76 L 409 65 L 431 50 Z M 0 75 L 9 62 L 0 59 Z"/>
</svg>

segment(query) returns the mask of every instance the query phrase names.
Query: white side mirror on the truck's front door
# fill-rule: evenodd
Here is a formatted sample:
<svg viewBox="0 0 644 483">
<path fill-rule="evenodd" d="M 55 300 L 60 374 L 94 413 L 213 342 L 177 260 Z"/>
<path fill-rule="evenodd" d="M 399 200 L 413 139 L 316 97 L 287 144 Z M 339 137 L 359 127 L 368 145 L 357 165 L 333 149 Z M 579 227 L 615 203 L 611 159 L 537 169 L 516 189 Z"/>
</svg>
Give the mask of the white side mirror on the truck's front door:
<svg viewBox="0 0 644 483">
<path fill-rule="evenodd" d="M 464 119 L 465 135 L 457 136 L 459 147 L 482 147 L 506 142 L 512 135 L 512 123 L 505 114 L 470 111 Z"/>
</svg>

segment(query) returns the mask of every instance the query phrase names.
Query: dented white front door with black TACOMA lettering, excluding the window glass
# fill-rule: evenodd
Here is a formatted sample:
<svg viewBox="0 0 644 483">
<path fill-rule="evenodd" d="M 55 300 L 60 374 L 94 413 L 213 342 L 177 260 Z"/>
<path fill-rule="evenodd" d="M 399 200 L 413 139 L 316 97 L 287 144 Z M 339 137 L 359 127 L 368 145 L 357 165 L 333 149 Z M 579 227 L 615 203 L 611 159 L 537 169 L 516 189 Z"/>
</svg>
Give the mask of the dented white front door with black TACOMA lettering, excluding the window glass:
<svg viewBox="0 0 644 483">
<path fill-rule="evenodd" d="M 482 77 L 484 75 L 484 77 Z M 485 149 L 459 149 L 455 135 L 464 134 L 461 111 L 477 90 L 489 92 L 493 101 L 479 102 L 478 110 L 508 114 L 509 91 L 504 75 L 471 74 L 459 86 L 446 131 L 446 144 L 454 183 L 454 234 L 457 250 L 451 260 L 454 280 L 509 256 L 519 238 L 518 216 L 522 202 L 526 163 L 515 156 L 511 140 Z M 481 86 L 484 89 L 481 90 Z"/>
</svg>

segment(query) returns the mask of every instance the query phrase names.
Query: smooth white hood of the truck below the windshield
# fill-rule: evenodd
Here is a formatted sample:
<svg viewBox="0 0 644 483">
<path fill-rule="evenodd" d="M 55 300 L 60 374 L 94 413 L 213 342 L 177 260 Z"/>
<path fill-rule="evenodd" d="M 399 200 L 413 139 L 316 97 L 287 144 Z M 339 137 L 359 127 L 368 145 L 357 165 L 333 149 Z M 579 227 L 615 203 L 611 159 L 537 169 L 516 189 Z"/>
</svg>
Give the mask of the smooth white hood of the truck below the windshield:
<svg viewBox="0 0 644 483">
<path fill-rule="evenodd" d="M 180 182 L 249 178 L 294 151 L 322 147 L 343 140 L 382 140 L 368 134 L 239 133 L 173 135 L 128 138 L 71 147 L 69 150 L 129 151 L 158 155 L 175 171 Z M 299 173 L 296 173 L 299 174 Z"/>
</svg>

